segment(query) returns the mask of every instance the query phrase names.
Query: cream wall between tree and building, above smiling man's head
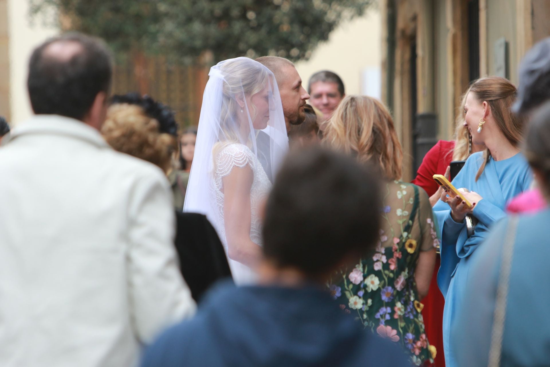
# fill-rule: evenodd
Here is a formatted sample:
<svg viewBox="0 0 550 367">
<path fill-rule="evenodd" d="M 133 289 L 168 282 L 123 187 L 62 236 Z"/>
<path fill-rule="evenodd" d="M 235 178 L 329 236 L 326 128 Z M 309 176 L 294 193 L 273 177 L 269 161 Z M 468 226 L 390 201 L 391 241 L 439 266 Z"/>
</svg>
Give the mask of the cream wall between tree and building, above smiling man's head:
<svg viewBox="0 0 550 367">
<path fill-rule="evenodd" d="M 365 74 L 381 70 L 381 14 L 372 7 L 360 18 L 340 24 L 327 42 L 321 43 L 308 61 L 296 63 L 296 69 L 307 88 L 310 76 L 327 69 L 337 73 L 344 81 L 346 94 L 364 94 L 374 87 L 380 93 L 381 84 L 363 85 Z M 373 78 L 376 79 L 376 78 Z M 368 82 L 368 80 L 367 80 Z"/>
</svg>

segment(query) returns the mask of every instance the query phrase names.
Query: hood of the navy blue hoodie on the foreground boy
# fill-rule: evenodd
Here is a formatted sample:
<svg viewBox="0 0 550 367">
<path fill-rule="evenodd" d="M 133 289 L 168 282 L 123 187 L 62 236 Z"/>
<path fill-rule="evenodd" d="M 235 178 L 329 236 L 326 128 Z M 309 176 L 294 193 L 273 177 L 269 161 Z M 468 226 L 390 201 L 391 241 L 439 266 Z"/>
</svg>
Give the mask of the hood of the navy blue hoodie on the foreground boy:
<svg viewBox="0 0 550 367">
<path fill-rule="evenodd" d="M 312 286 L 225 284 L 212 289 L 202 312 L 206 336 L 229 366 L 342 366 L 370 335 Z"/>
</svg>

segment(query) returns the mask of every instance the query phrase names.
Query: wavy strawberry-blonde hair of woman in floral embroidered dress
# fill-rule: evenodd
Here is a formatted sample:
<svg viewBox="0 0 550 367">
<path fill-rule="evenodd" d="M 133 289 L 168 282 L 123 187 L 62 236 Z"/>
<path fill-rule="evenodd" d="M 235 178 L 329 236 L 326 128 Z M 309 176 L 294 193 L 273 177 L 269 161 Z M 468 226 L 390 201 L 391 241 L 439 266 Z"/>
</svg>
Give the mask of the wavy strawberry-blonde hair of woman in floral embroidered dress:
<svg viewBox="0 0 550 367">
<path fill-rule="evenodd" d="M 401 178 L 403 150 L 386 106 L 372 97 L 347 96 L 328 120 L 325 144 L 370 162 L 391 180 Z"/>
</svg>

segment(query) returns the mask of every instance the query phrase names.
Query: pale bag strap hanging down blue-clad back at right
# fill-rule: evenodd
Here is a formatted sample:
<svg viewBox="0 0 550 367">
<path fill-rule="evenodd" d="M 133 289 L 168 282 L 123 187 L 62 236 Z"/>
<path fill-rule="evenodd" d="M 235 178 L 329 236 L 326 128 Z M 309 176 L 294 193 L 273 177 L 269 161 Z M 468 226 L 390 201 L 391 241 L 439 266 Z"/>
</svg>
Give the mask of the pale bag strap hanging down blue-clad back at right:
<svg viewBox="0 0 550 367">
<path fill-rule="evenodd" d="M 518 216 L 510 216 L 508 230 L 504 238 L 500 274 L 497 283 L 497 298 L 494 305 L 493 330 L 491 332 L 491 347 L 489 349 L 489 367 L 500 366 L 504 321 L 506 320 L 506 304 L 508 302 L 508 288 L 510 284 L 510 271 L 518 222 Z"/>
</svg>

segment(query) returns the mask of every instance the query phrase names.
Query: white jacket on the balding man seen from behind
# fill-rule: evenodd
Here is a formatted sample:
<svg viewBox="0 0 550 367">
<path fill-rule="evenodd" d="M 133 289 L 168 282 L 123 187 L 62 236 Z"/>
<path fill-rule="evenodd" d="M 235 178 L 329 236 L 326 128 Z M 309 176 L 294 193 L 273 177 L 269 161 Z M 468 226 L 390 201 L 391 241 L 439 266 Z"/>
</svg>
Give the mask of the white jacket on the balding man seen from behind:
<svg viewBox="0 0 550 367">
<path fill-rule="evenodd" d="M 161 169 L 42 115 L 0 146 L 0 366 L 134 365 L 192 315 Z"/>
</svg>

